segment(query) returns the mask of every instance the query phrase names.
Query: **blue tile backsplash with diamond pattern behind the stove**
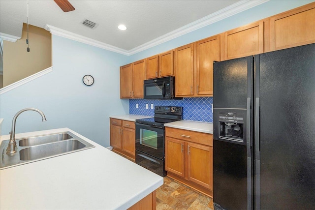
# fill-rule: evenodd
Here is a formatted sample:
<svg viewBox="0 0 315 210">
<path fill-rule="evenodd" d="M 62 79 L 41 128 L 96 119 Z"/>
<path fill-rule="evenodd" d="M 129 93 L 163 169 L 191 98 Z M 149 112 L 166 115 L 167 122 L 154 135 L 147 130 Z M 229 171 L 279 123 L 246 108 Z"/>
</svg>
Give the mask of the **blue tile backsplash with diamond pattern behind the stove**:
<svg viewBox="0 0 315 210">
<path fill-rule="evenodd" d="M 139 108 L 136 109 L 136 104 Z M 146 109 L 146 104 L 149 109 Z M 212 97 L 184 98 L 183 100 L 147 100 L 147 99 L 129 99 L 129 114 L 154 116 L 153 106 L 182 106 L 184 120 L 194 120 L 203 122 L 213 122 L 212 115 Z"/>
</svg>

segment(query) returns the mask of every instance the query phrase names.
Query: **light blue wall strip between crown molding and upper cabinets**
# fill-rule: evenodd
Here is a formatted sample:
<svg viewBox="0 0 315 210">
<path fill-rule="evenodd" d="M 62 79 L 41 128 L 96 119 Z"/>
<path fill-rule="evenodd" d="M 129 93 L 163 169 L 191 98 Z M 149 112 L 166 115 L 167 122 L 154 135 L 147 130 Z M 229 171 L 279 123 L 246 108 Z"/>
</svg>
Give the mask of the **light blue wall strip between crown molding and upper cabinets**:
<svg viewBox="0 0 315 210">
<path fill-rule="evenodd" d="M 235 29 L 246 24 L 279 14 L 281 12 L 302 6 L 313 2 L 314 0 L 269 0 L 263 4 L 255 6 L 251 9 L 223 19 L 219 22 L 194 30 L 190 33 L 172 39 L 170 41 L 159 44 L 158 46 L 144 50 L 132 56 L 129 56 L 126 63 L 134 62 L 159 53 L 175 49 L 177 47 L 207 38 L 227 30 Z M 310 20 L 311 21 L 311 20 Z"/>
</svg>

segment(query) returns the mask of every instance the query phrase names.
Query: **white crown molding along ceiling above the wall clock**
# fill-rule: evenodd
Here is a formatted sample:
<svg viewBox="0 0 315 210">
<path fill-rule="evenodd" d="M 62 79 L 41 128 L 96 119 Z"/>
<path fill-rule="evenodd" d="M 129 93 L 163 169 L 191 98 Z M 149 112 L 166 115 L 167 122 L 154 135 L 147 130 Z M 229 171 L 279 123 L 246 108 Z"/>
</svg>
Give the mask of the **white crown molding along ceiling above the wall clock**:
<svg viewBox="0 0 315 210">
<path fill-rule="evenodd" d="M 92 45 L 92 46 L 95 46 L 95 47 L 99 47 L 99 48 L 102 48 L 102 49 L 105 49 L 105 50 L 109 50 L 109 51 L 112 51 L 112 52 L 116 52 L 116 53 L 120 53 L 120 54 L 128 56 L 128 51 L 127 50 L 124 50 L 124 49 L 121 49 L 121 48 L 118 48 L 118 47 L 106 44 L 104 42 L 97 41 L 95 39 L 88 38 L 86 36 L 82 36 L 82 35 L 79 35 L 79 34 L 76 34 L 76 33 L 72 33 L 72 32 L 67 31 L 67 30 L 59 29 L 57 27 L 50 26 L 48 24 L 46 24 L 44 29 L 48 30 L 51 34 L 54 34 L 54 35 L 62 36 L 62 37 L 68 38 L 68 39 L 72 39 L 72 40 L 75 40 L 75 41 L 78 41 L 78 42 L 82 42 L 82 43 L 85 43 L 85 44 L 89 44 L 89 45 Z"/>
</svg>

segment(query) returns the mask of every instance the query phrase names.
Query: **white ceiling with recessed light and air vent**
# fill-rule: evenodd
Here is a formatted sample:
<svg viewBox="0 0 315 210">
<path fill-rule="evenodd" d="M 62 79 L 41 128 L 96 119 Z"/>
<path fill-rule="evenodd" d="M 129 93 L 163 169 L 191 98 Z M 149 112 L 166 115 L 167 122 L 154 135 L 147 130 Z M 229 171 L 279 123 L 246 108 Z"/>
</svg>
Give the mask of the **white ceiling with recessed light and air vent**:
<svg viewBox="0 0 315 210">
<path fill-rule="evenodd" d="M 74 11 L 63 12 L 53 0 L 29 0 L 29 24 L 48 24 L 124 51 L 158 39 L 207 16 L 248 3 L 239 0 L 69 0 Z M 260 1 L 260 3 L 265 1 Z M 258 3 L 258 4 L 260 4 Z M 237 13 L 235 11 L 234 13 Z M 0 32 L 21 37 L 26 0 L 0 0 Z M 95 29 L 82 24 L 88 19 Z M 127 30 L 117 28 L 125 24 Z"/>
</svg>

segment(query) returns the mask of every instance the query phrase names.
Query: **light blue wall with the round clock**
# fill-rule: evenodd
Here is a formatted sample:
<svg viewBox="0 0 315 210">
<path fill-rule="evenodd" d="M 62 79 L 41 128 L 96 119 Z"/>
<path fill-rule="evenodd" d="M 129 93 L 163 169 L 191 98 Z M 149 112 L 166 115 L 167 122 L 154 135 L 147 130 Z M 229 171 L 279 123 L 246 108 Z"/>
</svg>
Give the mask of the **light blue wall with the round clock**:
<svg viewBox="0 0 315 210">
<path fill-rule="evenodd" d="M 119 67 L 126 56 L 53 35 L 53 72 L 0 95 L 1 135 L 11 130 L 13 116 L 34 107 L 46 115 L 22 113 L 16 133 L 68 127 L 108 147 L 109 116 L 127 114 L 129 101 L 120 99 Z M 23 69 L 21 69 L 22 71 Z M 82 77 L 91 74 L 95 83 L 85 86 Z"/>
</svg>

